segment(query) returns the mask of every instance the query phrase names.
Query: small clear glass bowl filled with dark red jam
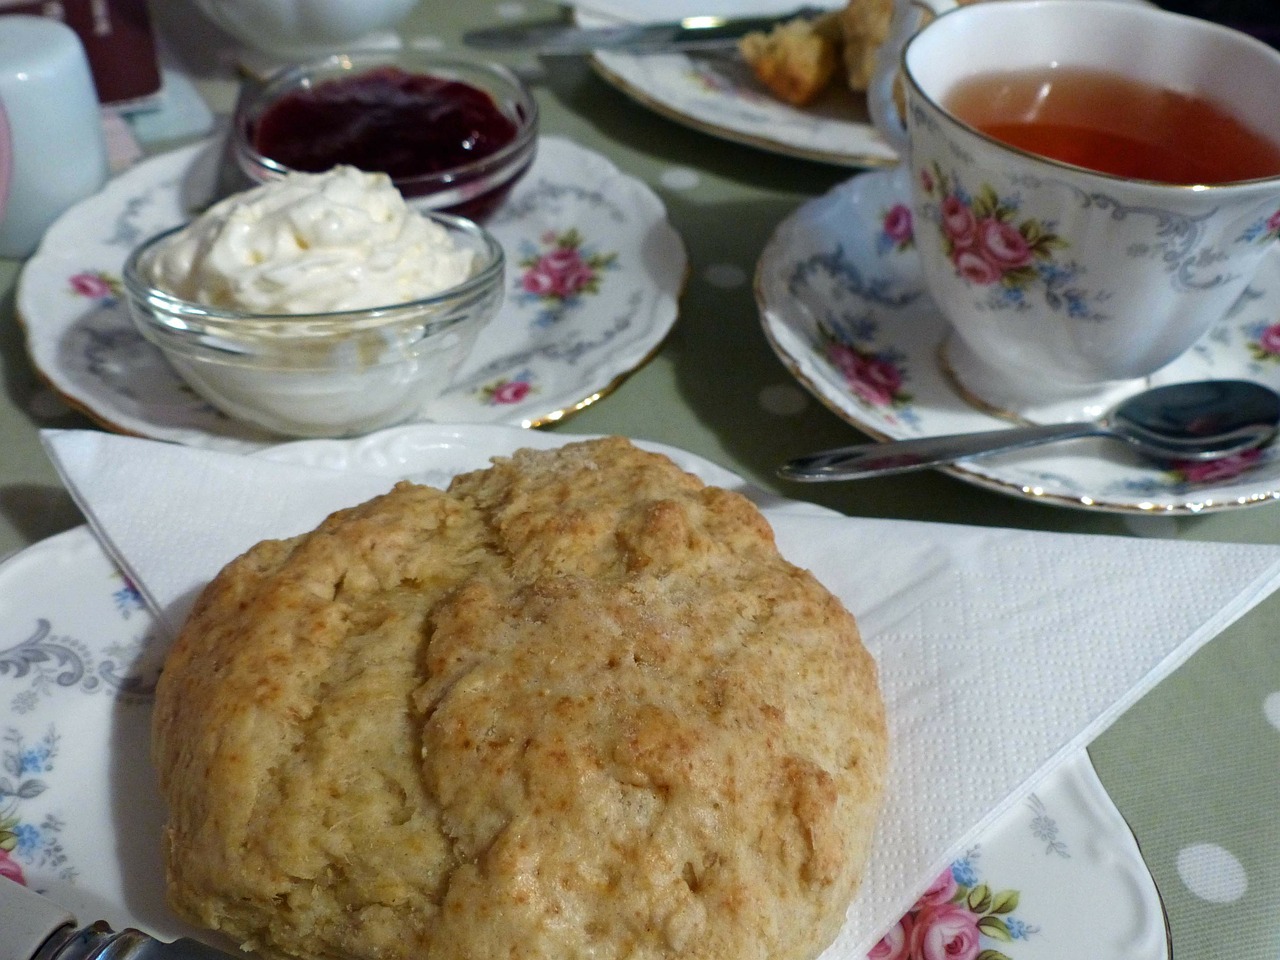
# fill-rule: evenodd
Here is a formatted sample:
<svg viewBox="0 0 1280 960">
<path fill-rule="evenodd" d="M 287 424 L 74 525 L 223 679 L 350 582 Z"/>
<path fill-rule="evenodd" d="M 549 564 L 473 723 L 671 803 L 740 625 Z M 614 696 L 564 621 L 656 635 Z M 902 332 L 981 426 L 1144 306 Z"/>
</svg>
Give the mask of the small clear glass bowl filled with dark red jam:
<svg viewBox="0 0 1280 960">
<path fill-rule="evenodd" d="M 232 142 L 256 183 L 347 164 L 388 174 L 420 210 L 479 220 L 532 163 L 538 102 L 498 64 L 413 50 L 334 54 L 247 90 Z"/>
</svg>

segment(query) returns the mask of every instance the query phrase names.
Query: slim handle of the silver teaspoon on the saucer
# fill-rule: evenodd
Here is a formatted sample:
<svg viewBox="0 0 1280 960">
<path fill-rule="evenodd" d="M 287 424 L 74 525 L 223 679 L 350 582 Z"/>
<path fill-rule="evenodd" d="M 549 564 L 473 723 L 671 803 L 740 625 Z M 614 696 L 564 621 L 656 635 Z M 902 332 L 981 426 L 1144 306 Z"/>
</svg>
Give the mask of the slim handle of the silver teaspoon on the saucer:
<svg viewBox="0 0 1280 960">
<path fill-rule="evenodd" d="M 987 430 L 977 434 L 922 436 L 915 440 L 892 440 L 890 443 L 863 443 L 856 447 L 841 447 L 787 461 L 778 468 L 778 475 L 787 480 L 806 483 L 860 480 L 868 476 L 887 476 L 905 474 L 909 470 L 923 470 L 984 453 L 1000 453 L 1052 440 L 1110 433 L 1102 424 L 1084 421 L 1050 426 L 1019 426 L 1011 430 Z"/>
</svg>

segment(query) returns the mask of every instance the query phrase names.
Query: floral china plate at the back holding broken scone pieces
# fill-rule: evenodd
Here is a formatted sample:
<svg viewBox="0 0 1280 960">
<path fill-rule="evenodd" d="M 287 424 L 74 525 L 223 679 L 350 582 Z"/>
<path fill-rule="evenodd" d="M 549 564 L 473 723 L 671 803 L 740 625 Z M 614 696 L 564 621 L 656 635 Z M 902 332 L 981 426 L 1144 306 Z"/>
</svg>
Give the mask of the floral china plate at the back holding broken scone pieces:
<svg viewBox="0 0 1280 960">
<path fill-rule="evenodd" d="M 581 10 L 576 19 L 617 23 Z M 771 95 L 733 51 L 598 51 L 591 64 L 632 100 L 722 140 L 840 166 L 886 166 L 897 156 L 872 125 L 865 97 L 841 83 L 800 109 Z"/>
</svg>

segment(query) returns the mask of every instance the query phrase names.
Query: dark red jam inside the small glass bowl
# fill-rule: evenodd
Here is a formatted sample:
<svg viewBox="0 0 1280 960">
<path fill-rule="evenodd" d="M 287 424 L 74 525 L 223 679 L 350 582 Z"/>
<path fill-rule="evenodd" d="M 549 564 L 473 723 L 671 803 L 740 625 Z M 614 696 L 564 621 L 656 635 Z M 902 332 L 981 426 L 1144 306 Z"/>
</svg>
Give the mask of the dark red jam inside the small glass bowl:
<svg viewBox="0 0 1280 960">
<path fill-rule="evenodd" d="M 253 147 L 293 170 L 387 173 L 413 196 L 421 191 L 399 182 L 490 156 L 516 133 L 483 90 L 385 67 L 280 97 L 259 119 Z"/>
</svg>

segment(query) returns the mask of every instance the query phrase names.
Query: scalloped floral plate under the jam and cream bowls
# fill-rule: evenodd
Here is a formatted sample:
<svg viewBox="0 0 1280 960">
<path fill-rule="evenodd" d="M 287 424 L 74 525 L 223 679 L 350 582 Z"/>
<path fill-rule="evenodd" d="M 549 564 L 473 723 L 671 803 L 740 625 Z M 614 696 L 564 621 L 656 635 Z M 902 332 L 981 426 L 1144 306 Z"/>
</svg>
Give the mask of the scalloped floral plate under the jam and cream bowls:
<svg viewBox="0 0 1280 960">
<path fill-rule="evenodd" d="M 72 207 L 28 261 L 17 312 L 40 372 L 102 425 L 247 451 L 279 442 L 193 394 L 133 329 L 120 268 L 143 238 L 210 196 L 218 143 L 147 160 Z M 507 296 L 424 420 L 538 426 L 613 389 L 676 320 L 684 243 L 662 201 L 613 164 L 545 137 L 486 224 L 507 252 Z"/>
</svg>

